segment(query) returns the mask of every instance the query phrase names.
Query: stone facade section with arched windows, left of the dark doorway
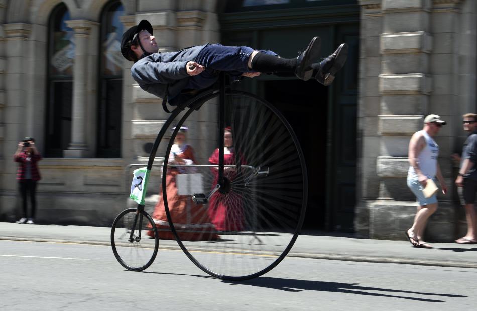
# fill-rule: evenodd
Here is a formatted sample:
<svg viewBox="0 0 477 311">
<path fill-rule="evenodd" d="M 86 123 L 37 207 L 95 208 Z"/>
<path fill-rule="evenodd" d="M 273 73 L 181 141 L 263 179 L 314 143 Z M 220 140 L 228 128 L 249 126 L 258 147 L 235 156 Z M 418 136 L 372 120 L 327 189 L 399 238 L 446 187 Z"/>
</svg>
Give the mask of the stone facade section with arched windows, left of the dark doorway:
<svg viewBox="0 0 477 311">
<path fill-rule="evenodd" d="M 109 57 L 121 61 L 121 79 L 118 79 L 121 85 L 119 88 L 116 86 L 116 90 L 121 90 L 121 94 L 118 100 L 112 103 L 114 107 L 109 112 L 121 112 L 119 122 L 116 122 L 120 127 L 116 128 L 116 133 L 121 135 L 120 144 L 117 145 L 121 146 L 121 150 L 116 152 L 119 157 L 104 157 L 100 154 L 98 139 L 103 120 L 99 116 L 99 106 L 100 96 L 104 97 L 105 94 L 98 95 L 101 85 L 98 81 L 101 77 L 98 68 L 102 66 L 100 62 L 105 61 L 98 54 L 107 39 L 102 37 L 102 24 L 112 23 L 107 20 L 107 16 L 103 16 L 104 11 L 111 5 L 118 8 L 116 14 L 119 15 L 123 29 L 136 25 L 141 19 L 148 19 L 154 27 L 162 51 L 176 50 L 201 42 L 219 41 L 215 1 L 2 1 L 2 221 L 13 221 L 20 211 L 15 180 L 16 165 L 13 165 L 11 155 L 15 153 L 18 141 L 25 136 L 33 136 L 36 139 L 36 144 L 44 156 L 39 162 L 42 175 L 37 196 L 39 222 L 107 226 L 118 212 L 132 205 L 132 201 L 129 202 L 128 199 L 130 175 L 134 169 L 146 165 L 149 150 L 145 145 L 154 141 L 158 129 L 167 118 L 167 113 L 160 106 L 161 99 L 142 91 L 133 83 L 130 75 L 132 63 L 123 59 L 117 46 L 110 45 L 114 51 Z M 48 135 L 47 127 L 50 124 L 47 124 L 48 119 L 45 117 L 50 113 L 49 102 L 57 95 L 51 94 L 54 91 L 52 92 L 49 86 L 53 79 L 50 72 L 60 66 L 68 66 L 63 65 L 67 63 L 66 53 L 61 54 L 61 51 L 55 50 L 57 53 L 52 56 L 49 52 L 49 49 L 54 49 L 51 47 L 51 34 L 55 33 L 55 29 L 52 28 L 59 27 L 54 16 L 58 10 L 63 10 L 60 15 L 63 14 L 62 23 L 66 24 L 62 24 L 61 36 L 65 38 L 66 29 L 71 34 L 70 39 L 74 45 L 74 49 L 68 51 L 71 53 L 71 77 L 69 80 L 63 77 L 66 81 L 72 81 L 71 94 L 59 98 L 65 103 L 69 100 L 71 105 L 71 119 L 66 120 L 70 121 L 67 126 L 70 135 L 67 137 L 68 143 L 63 145 L 59 152 L 54 148 L 51 137 L 64 137 L 58 133 Z M 122 33 L 118 36 L 116 34 L 115 43 L 119 43 L 121 35 Z M 57 55 L 58 58 L 63 57 L 62 62 L 54 59 Z M 116 66 L 117 63 L 116 61 Z M 61 76 L 68 76 L 67 70 L 62 72 Z M 109 92 L 114 92 L 114 89 Z M 62 117 L 64 116 L 61 114 L 55 115 L 55 118 Z M 61 126 L 59 128 L 65 130 Z M 47 146 L 53 147 L 48 150 Z M 48 153 L 53 156 L 48 156 Z M 160 152 L 158 156 L 159 154 Z M 157 163 L 161 161 L 158 157 Z M 156 180 L 150 185 L 150 201 L 157 200 L 158 183 Z"/>
</svg>

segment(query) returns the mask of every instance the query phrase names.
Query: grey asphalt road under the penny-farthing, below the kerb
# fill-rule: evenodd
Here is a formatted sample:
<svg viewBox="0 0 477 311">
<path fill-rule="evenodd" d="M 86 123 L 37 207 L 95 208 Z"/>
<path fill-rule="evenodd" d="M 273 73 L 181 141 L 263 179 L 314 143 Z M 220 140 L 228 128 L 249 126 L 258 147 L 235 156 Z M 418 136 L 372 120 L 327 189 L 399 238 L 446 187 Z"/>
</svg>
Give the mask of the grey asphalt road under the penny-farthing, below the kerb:
<svg viewBox="0 0 477 311">
<path fill-rule="evenodd" d="M 288 257 L 266 275 L 222 281 L 177 250 L 144 272 L 109 246 L 0 241 L 2 310 L 461 310 L 476 269 Z"/>
</svg>

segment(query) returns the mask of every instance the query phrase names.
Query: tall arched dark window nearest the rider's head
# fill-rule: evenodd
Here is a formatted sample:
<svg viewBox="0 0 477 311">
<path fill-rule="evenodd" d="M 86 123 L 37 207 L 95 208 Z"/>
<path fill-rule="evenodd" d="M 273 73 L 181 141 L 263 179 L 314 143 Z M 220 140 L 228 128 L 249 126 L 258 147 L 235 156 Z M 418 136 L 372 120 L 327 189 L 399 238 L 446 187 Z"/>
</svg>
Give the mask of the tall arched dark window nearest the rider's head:
<svg viewBox="0 0 477 311">
<path fill-rule="evenodd" d="M 123 56 L 121 36 L 124 32 L 120 1 L 111 1 L 101 15 L 99 53 L 98 152 L 99 158 L 121 157 L 121 119 Z"/>
</svg>

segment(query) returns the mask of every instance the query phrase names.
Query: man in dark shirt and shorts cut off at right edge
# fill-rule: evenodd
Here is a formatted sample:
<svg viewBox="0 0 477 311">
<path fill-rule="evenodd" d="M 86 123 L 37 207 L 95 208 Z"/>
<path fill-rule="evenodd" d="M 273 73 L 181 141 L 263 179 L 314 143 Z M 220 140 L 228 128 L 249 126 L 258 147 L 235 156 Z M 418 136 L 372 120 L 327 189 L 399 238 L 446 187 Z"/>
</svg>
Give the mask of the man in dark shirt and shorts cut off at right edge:
<svg viewBox="0 0 477 311">
<path fill-rule="evenodd" d="M 467 219 L 467 234 L 455 242 L 457 244 L 477 244 L 477 214 L 474 209 L 475 193 L 477 192 L 477 114 L 467 113 L 462 116 L 464 131 L 469 132 L 462 149 L 462 157 L 452 155 L 460 160 L 460 169 L 455 180 L 461 203 L 465 205 Z"/>
</svg>

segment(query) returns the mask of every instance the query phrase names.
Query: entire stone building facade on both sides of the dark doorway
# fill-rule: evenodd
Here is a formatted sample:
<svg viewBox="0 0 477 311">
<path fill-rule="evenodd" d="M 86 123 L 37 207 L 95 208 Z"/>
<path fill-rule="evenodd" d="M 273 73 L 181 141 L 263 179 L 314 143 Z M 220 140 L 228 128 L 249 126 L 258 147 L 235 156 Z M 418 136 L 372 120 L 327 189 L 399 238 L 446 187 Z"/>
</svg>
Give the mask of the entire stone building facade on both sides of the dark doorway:
<svg viewBox="0 0 477 311">
<path fill-rule="evenodd" d="M 318 229 L 342 230 L 340 219 L 346 218 L 347 230 L 362 236 L 403 238 L 416 206 L 405 183 L 408 142 L 430 113 L 448 121 L 436 140 L 444 177 L 453 184 L 450 154 L 465 139 L 460 115 L 476 110 L 473 0 L 0 0 L 0 221 L 18 215 L 11 155 L 24 136 L 34 136 L 46 155 L 40 162 L 39 221 L 107 226 L 131 205 L 129 175 L 145 166 L 150 143 L 167 118 L 161 99 L 134 83 L 132 64 L 114 49 L 112 35 L 117 40 L 119 29 L 141 19 L 153 25 L 161 51 L 222 42 L 255 43 L 281 54 L 295 46 L 291 38 L 310 32 L 326 39 L 326 56 L 337 42 L 349 41 L 351 57 L 342 77 L 329 89 L 307 89 L 318 88 L 324 99 L 307 106 L 306 114 L 315 119 L 301 120 L 315 127 L 323 123 L 311 136 L 324 138 L 305 143 L 311 150 L 305 153 L 326 150 L 308 158 L 310 176 L 322 175 L 325 182 L 310 184 L 310 194 L 324 194 L 309 201 L 309 229 L 317 229 L 313 223 L 321 217 Z M 74 49 L 65 48 L 64 40 Z M 109 62 L 115 71 L 106 70 Z M 267 83 L 281 82 L 270 79 L 259 79 L 249 90 L 265 96 Z M 296 92 L 291 95 L 299 97 Z M 61 100 L 55 102 L 56 96 Z M 327 105 L 325 113 L 318 104 Z M 299 123 L 295 128 L 299 137 L 310 134 Z M 203 131 L 195 132 L 191 139 L 205 156 L 214 146 L 204 141 Z M 338 163 L 341 154 L 347 158 Z M 439 196 L 431 239 L 451 240 L 465 228 L 454 192 Z M 150 194 L 155 202 L 157 193 Z"/>
</svg>

